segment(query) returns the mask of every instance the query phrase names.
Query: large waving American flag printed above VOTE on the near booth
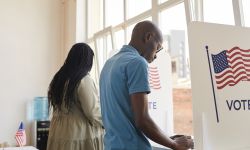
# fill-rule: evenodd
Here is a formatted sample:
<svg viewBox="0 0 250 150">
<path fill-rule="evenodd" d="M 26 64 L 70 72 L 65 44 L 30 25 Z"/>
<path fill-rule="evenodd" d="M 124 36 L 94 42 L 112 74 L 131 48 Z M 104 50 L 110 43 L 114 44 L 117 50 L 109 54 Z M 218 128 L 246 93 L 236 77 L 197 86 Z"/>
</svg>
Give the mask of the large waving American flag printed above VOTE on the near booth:
<svg viewBox="0 0 250 150">
<path fill-rule="evenodd" d="M 233 47 L 212 54 L 217 89 L 234 86 L 240 81 L 250 81 L 250 49 Z"/>
</svg>

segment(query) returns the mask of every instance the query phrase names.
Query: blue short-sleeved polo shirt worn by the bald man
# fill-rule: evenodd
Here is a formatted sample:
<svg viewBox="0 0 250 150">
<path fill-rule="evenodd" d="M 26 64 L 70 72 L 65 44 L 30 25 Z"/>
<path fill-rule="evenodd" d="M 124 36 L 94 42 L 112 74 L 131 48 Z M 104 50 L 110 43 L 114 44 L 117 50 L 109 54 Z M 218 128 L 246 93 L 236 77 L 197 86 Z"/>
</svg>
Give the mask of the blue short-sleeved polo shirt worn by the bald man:
<svg viewBox="0 0 250 150">
<path fill-rule="evenodd" d="M 129 45 L 105 63 L 100 75 L 100 102 L 106 134 L 105 150 L 151 150 L 144 134 L 135 126 L 130 95 L 150 92 L 148 64 Z"/>
</svg>

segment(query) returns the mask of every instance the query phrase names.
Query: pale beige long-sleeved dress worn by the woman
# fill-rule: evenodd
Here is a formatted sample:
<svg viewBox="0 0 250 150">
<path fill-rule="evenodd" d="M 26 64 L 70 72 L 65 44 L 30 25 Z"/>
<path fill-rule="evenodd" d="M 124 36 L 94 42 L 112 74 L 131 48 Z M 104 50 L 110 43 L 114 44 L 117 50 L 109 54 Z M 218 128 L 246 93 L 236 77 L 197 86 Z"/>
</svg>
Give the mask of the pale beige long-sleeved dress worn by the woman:
<svg viewBox="0 0 250 150">
<path fill-rule="evenodd" d="M 104 129 L 98 92 L 86 75 L 77 91 L 78 103 L 71 112 L 53 112 L 47 150 L 103 150 Z"/>
</svg>

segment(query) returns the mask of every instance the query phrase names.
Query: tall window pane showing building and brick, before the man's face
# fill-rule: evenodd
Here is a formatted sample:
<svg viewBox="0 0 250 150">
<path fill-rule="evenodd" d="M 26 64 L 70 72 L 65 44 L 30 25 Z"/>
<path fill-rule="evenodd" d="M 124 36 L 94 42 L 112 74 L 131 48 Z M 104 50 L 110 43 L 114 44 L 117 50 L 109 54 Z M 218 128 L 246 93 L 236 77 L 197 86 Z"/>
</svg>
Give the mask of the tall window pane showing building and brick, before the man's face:
<svg viewBox="0 0 250 150">
<path fill-rule="evenodd" d="M 164 47 L 172 64 L 174 133 L 192 135 L 192 97 L 184 3 L 160 13 Z"/>
</svg>

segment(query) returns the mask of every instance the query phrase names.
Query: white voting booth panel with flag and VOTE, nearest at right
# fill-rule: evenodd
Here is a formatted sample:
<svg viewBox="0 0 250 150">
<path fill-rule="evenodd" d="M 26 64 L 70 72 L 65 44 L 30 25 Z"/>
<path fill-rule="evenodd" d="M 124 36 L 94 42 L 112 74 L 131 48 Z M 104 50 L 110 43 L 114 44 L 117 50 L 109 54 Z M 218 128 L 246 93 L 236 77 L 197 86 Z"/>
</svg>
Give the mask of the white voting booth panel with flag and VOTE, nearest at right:
<svg viewBox="0 0 250 150">
<path fill-rule="evenodd" d="M 250 149 L 250 29 L 188 26 L 197 150 Z"/>
</svg>

